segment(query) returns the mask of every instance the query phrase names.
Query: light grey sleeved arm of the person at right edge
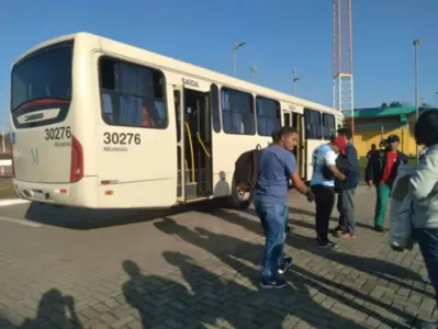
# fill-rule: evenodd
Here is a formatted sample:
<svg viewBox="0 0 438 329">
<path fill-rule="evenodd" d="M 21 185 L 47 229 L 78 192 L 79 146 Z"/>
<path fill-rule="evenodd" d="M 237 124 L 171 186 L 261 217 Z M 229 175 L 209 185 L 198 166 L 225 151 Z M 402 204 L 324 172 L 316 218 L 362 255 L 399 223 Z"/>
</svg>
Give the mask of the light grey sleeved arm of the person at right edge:
<svg viewBox="0 0 438 329">
<path fill-rule="evenodd" d="M 426 156 L 418 163 L 415 173 L 411 177 L 409 188 L 418 200 L 427 197 L 438 183 L 438 158 Z"/>
</svg>

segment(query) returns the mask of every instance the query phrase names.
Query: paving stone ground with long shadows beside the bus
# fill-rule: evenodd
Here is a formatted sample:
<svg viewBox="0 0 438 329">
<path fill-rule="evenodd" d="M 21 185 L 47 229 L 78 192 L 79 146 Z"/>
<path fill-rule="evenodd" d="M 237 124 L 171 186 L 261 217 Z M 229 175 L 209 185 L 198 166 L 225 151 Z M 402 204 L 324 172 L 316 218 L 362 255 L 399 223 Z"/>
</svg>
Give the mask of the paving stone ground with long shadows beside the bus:
<svg viewBox="0 0 438 329">
<path fill-rule="evenodd" d="M 361 186 L 356 200 L 358 238 L 325 251 L 314 241 L 314 205 L 291 193 L 294 265 L 281 291 L 258 288 L 263 238 L 252 209 L 0 208 L 43 224 L 0 222 L 0 328 L 409 328 L 429 319 L 434 293 L 418 249 L 391 251 L 388 232 L 372 230 L 373 191 Z"/>
</svg>

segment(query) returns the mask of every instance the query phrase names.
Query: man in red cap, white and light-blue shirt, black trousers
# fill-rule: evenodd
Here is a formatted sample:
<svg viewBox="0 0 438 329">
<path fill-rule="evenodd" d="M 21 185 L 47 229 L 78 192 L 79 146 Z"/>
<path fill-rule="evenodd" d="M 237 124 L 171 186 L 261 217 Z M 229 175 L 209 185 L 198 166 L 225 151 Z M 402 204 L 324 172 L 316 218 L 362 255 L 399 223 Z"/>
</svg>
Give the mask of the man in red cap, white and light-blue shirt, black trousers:
<svg viewBox="0 0 438 329">
<path fill-rule="evenodd" d="M 312 191 L 315 194 L 316 241 L 322 248 L 336 248 L 337 245 L 328 239 L 328 226 L 333 206 L 335 205 L 335 178 L 339 181 L 345 175 L 336 167 L 337 154 L 345 154 L 347 143 L 342 137 L 333 138 L 330 143 L 323 144 L 313 151 L 313 174 L 311 180 Z M 327 178 L 325 170 L 330 177 Z"/>
</svg>

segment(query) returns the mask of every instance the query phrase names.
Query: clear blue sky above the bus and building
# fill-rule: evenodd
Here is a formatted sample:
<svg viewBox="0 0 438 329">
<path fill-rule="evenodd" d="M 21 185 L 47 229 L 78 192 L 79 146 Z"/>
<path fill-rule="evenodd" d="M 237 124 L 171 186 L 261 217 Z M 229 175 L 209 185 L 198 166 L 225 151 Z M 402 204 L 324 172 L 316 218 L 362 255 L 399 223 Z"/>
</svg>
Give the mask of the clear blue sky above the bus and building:
<svg viewBox="0 0 438 329">
<path fill-rule="evenodd" d="M 91 32 L 333 105 L 330 0 L 4 0 L 0 4 L 0 126 L 9 126 L 12 63 L 52 37 Z M 355 107 L 414 103 L 414 46 L 419 97 L 438 91 L 438 0 L 351 0 Z"/>
</svg>

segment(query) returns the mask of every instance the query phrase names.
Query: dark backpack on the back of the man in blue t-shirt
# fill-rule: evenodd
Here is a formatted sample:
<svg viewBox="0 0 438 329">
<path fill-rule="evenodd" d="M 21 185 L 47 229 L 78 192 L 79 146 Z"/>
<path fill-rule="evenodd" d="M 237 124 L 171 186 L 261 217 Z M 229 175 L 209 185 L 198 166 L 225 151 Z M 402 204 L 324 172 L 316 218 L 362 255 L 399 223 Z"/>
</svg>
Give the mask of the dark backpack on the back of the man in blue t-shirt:
<svg viewBox="0 0 438 329">
<path fill-rule="evenodd" d="M 234 179 L 240 191 L 250 191 L 256 186 L 259 175 L 259 160 L 261 146 L 243 152 L 235 162 Z"/>
</svg>

